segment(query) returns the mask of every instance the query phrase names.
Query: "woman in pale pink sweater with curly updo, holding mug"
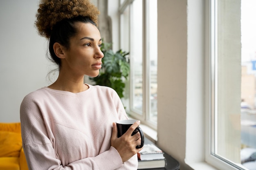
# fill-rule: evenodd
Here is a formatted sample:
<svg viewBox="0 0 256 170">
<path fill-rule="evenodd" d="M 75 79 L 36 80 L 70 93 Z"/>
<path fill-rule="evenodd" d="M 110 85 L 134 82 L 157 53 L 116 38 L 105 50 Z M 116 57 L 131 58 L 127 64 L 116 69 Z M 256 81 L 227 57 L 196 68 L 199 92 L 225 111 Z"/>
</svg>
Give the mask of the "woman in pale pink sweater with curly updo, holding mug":
<svg viewBox="0 0 256 170">
<path fill-rule="evenodd" d="M 59 66 L 58 79 L 28 94 L 20 106 L 22 144 L 30 170 L 136 170 L 139 126 L 117 138 L 117 120 L 128 119 L 117 93 L 84 84 L 96 77 L 103 53 L 99 11 L 88 0 L 41 0 L 40 35 Z"/>
</svg>

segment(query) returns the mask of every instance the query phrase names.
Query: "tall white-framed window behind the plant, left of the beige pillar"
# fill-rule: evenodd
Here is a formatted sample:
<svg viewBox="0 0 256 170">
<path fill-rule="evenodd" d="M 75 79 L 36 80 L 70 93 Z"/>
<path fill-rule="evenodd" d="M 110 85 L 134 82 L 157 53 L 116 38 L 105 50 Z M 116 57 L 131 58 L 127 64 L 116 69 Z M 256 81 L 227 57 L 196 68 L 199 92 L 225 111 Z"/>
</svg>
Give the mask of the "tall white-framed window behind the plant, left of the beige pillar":
<svg viewBox="0 0 256 170">
<path fill-rule="evenodd" d="M 123 0 L 119 11 L 121 49 L 130 52 L 126 110 L 131 117 L 156 128 L 157 0 Z"/>
</svg>

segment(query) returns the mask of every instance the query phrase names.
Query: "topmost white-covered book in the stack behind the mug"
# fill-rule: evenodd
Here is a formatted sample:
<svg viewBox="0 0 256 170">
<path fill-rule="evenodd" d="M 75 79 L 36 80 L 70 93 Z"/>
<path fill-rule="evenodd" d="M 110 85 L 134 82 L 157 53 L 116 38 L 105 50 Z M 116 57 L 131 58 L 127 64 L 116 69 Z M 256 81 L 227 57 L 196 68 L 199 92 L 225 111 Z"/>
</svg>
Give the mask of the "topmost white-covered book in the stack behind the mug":
<svg viewBox="0 0 256 170">
<path fill-rule="evenodd" d="M 154 144 L 144 144 L 141 151 L 138 152 L 139 160 L 164 159 L 164 152 Z"/>
</svg>

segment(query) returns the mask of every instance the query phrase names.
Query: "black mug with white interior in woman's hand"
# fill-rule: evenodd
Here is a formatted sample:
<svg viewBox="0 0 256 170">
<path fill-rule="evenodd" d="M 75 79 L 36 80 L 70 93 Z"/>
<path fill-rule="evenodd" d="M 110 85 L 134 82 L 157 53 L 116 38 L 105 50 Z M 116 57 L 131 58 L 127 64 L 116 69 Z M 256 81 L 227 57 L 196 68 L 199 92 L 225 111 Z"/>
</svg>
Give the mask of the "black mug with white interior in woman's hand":
<svg viewBox="0 0 256 170">
<path fill-rule="evenodd" d="M 127 119 L 127 120 L 119 120 L 117 121 L 117 137 L 121 137 L 124 135 L 124 133 L 134 124 L 137 120 L 135 119 Z M 141 144 L 139 146 L 136 146 L 136 148 L 142 148 L 144 146 L 144 134 L 141 130 L 141 128 L 138 126 L 133 132 L 132 135 L 135 135 L 137 132 L 139 132 L 141 137 Z"/>
</svg>

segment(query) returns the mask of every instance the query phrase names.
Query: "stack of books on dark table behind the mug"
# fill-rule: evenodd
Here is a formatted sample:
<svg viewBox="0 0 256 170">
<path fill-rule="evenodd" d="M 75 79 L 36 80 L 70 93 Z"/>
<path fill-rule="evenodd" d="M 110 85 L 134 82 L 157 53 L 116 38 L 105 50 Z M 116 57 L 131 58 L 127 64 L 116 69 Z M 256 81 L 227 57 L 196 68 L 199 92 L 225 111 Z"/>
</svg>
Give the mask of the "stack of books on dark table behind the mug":
<svg viewBox="0 0 256 170">
<path fill-rule="evenodd" d="M 164 168 L 166 159 L 164 152 L 154 144 L 144 144 L 144 148 L 137 153 L 138 170 L 147 168 Z"/>
</svg>

